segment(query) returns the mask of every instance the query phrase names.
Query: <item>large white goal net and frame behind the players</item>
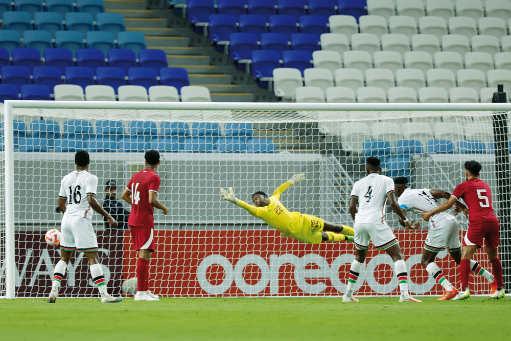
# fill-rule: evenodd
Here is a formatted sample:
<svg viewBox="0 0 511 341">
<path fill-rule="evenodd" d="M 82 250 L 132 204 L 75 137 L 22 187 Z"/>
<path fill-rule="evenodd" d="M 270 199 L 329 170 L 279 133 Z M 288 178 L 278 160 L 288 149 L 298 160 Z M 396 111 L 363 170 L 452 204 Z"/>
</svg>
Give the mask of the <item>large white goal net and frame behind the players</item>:
<svg viewBox="0 0 511 341">
<path fill-rule="evenodd" d="M 13 123 L 8 124 L 11 105 Z M 100 204 L 110 199 L 109 207 L 115 206 L 117 199 L 128 211 L 120 198 L 124 187 L 144 168 L 144 151 L 160 151 L 158 200 L 169 214 L 155 210 L 149 287 L 164 297 L 343 294 L 355 258 L 353 243 L 285 238 L 222 200 L 220 189 L 233 187 L 237 197 L 251 203 L 255 191 L 271 194 L 293 174 L 305 173 L 305 181 L 282 194 L 284 206 L 353 226 L 347 203 L 353 184 L 365 176 L 368 156 L 381 159 L 383 174 L 408 177 L 413 188 L 448 192 L 464 181 L 463 162 L 480 162 L 481 179 L 492 188 L 501 220 L 501 259 L 508 274 L 509 203 L 502 198 L 511 194 L 505 172 L 509 139 L 507 130 L 494 129 L 507 125 L 506 110 L 511 110 L 507 104 L 8 102 L 0 121 L 13 127 L 14 146 L 2 127 L 0 297 L 10 297 L 9 290 L 17 298 L 48 295 L 60 249 L 47 244 L 44 235 L 60 230 L 60 181 L 75 169 L 75 150 L 81 149 L 89 151 L 89 171 L 98 176 Z M 117 183 L 116 198 L 107 198 L 110 180 Z M 13 191 L 6 192 L 6 185 Z M 6 217 L 9 201 L 12 220 L 9 212 Z M 127 221 L 116 210 L 118 220 Z M 386 213 L 405 255 L 409 290 L 442 294 L 442 286 L 421 266 L 428 224 L 405 231 L 388 207 Z M 467 219 L 457 219 L 466 231 Z M 129 230 L 105 228 L 97 213 L 92 223 L 109 290 L 125 294 L 124 284 L 130 292 L 136 282 L 126 280 L 136 276 L 137 254 Z M 493 272 L 482 251 L 475 260 Z M 458 266 L 447 251 L 439 252 L 437 264 L 459 287 Z M 390 257 L 371 245 L 355 295 L 397 295 L 396 275 Z M 487 294 L 489 288 L 471 272 L 471 291 Z M 59 297 L 97 296 L 86 258 L 75 254 Z"/>
</svg>

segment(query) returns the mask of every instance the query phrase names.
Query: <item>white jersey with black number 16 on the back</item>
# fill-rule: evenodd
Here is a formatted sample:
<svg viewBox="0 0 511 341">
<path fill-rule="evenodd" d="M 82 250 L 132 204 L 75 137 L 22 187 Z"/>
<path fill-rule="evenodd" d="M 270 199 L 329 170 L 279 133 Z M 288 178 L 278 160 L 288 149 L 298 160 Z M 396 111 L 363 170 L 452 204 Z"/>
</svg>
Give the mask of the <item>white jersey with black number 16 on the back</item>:
<svg viewBox="0 0 511 341">
<path fill-rule="evenodd" d="M 73 171 L 60 182 L 59 199 L 66 199 L 64 216 L 82 216 L 92 219 L 92 210 L 87 196 L 96 197 L 98 177 L 89 172 Z"/>
</svg>

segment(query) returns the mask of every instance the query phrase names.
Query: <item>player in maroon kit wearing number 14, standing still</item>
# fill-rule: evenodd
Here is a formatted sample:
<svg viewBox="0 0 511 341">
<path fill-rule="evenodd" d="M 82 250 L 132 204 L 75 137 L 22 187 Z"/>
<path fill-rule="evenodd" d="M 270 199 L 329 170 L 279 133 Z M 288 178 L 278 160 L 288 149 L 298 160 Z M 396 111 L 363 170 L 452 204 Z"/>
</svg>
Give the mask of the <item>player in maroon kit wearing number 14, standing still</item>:
<svg viewBox="0 0 511 341">
<path fill-rule="evenodd" d="M 123 191 L 123 198 L 131 205 L 128 226 L 131 238 L 138 251 L 136 262 L 137 291 L 135 301 L 159 301 L 158 296 L 149 291 L 149 261 L 154 252 L 154 209 L 167 215 L 169 209 L 161 204 L 156 196 L 160 177 L 156 174 L 159 165 L 159 153 L 150 150 L 144 155 L 147 168 L 131 177 Z"/>
</svg>

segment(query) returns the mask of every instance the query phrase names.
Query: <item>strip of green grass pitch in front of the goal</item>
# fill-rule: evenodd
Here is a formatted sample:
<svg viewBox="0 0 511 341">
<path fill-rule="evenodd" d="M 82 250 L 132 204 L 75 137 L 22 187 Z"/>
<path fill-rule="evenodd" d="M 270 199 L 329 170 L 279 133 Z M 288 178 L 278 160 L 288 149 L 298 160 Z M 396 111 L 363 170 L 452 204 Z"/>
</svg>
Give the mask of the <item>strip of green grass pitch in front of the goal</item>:
<svg viewBox="0 0 511 341">
<path fill-rule="evenodd" d="M 0 300 L 7 340 L 504 340 L 511 301 L 361 298 Z"/>
</svg>

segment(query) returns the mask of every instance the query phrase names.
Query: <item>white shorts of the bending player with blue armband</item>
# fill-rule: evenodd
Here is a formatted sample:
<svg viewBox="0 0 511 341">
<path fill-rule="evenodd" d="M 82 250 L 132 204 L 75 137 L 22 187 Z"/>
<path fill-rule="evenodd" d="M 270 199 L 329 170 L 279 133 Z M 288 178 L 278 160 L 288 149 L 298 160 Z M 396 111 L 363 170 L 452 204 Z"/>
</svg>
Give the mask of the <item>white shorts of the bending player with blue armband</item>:
<svg viewBox="0 0 511 341">
<path fill-rule="evenodd" d="M 461 249 L 459 242 L 459 225 L 457 220 L 446 220 L 441 224 L 430 226 L 424 248 L 428 251 L 440 252 L 449 248 L 450 252 Z"/>
</svg>

